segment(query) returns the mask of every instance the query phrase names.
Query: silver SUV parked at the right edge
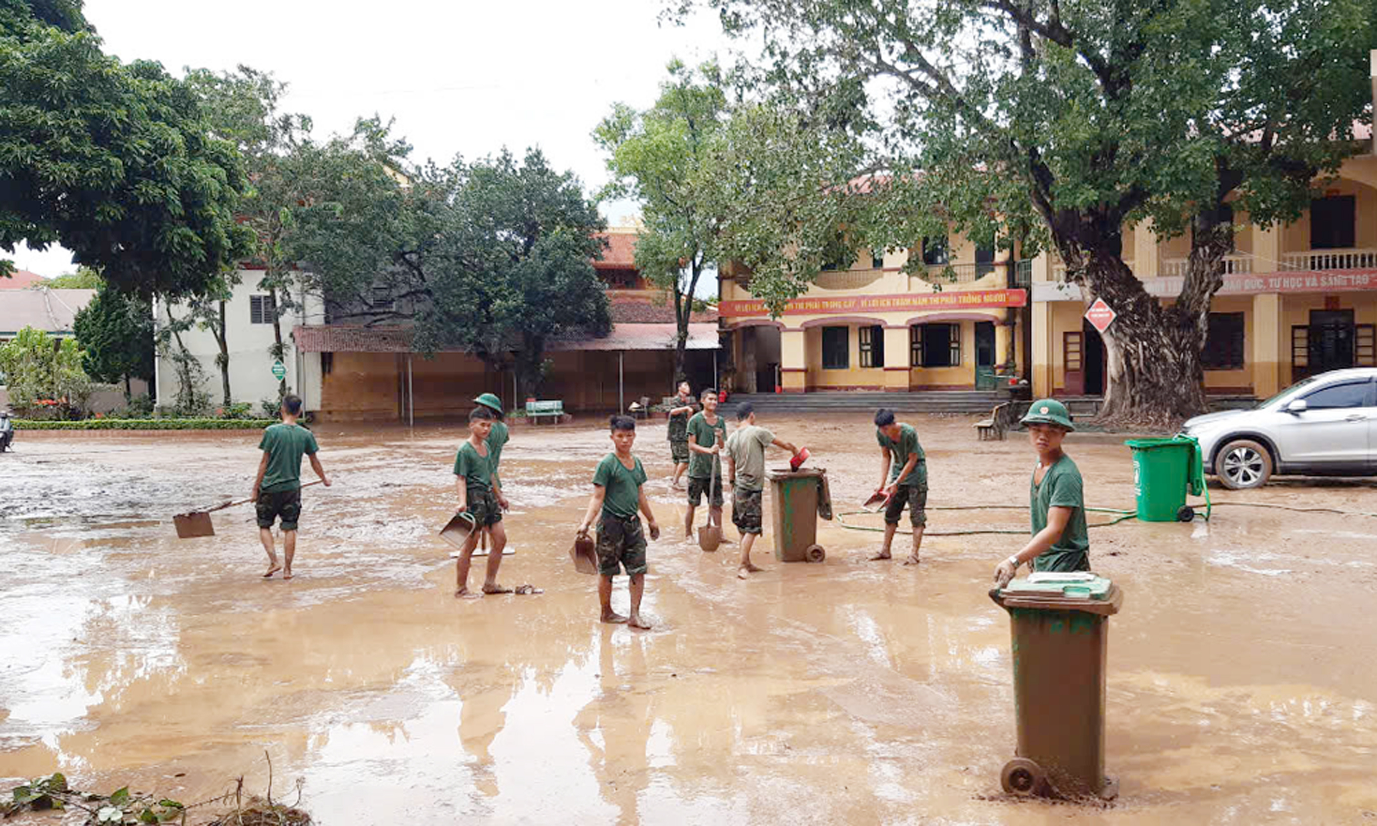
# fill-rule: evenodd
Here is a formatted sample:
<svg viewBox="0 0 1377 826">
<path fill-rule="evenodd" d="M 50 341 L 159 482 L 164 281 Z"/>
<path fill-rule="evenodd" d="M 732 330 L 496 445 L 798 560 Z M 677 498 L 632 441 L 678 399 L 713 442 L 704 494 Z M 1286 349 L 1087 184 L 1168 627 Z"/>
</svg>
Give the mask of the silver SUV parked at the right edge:
<svg viewBox="0 0 1377 826">
<path fill-rule="evenodd" d="M 1311 376 L 1252 410 L 1197 416 L 1181 432 L 1199 439 L 1206 471 L 1231 490 L 1272 474 L 1377 475 L 1377 368 Z"/>
</svg>

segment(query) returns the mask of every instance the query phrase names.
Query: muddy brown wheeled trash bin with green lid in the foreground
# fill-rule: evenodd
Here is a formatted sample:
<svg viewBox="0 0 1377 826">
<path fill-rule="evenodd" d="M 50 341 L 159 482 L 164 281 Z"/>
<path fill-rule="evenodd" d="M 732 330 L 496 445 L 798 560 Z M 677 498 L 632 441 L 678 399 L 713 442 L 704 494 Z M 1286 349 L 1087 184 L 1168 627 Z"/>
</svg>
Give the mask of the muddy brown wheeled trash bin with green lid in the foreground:
<svg viewBox="0 0 1377 826">
<path fill-rule="evenodd" d="M 1124 592 L 1089 573 L 1038 573 L 990 597 L 1009 613 L 1016 757 L 1004 790 L 1056 797 L 1118 796 L 1104 776 L 1108 618 Z"/>
</svg>

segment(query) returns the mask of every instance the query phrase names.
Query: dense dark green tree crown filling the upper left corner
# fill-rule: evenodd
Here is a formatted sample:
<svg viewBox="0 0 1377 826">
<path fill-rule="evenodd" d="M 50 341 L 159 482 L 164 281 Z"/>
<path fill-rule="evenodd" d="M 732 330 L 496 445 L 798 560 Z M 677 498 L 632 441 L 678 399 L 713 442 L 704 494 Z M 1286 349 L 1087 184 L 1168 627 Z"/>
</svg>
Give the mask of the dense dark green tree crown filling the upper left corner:
<svg viewBox="0 0 1377 826">
<path fill-rule="evenodd" d="M 105 55 L 80 0 L 0 0 L 0 249 L 61 244 L 143 296 L 196 293 L 248 238 L 234 146 L 158 63 Z"/>
</svg>

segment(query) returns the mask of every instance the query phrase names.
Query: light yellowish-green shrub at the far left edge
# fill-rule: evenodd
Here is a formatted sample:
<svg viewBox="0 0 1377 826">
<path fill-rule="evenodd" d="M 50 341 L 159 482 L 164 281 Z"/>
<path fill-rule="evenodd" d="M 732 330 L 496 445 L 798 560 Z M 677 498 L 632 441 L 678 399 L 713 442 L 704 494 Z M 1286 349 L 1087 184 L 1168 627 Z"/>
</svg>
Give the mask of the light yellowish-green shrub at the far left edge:
<svg viewBox="0 0 1377 826">
<path fill-rule="evenodd" d="M 10 405 L 21 416 L 47 412 L 43 399 L 58 399 L 65 409 L 85 410 L 91 377 L 81 369 L 84 352 L 74 339 L 61 341 L 48 333 L 23 328 L 0 344 L 0 373 L 10 390 Z"/>
</svg>

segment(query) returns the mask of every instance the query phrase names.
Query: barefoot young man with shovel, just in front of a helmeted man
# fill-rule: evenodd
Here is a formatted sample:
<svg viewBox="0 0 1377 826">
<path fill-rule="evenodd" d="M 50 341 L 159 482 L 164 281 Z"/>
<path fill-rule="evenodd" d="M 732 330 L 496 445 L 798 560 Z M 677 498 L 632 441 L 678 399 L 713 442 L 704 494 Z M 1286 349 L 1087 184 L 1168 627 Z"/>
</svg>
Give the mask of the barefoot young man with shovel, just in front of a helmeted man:
<svg viewBox="0 0 1377 826">
<path fill-rule="evenodd" d="M 474 562 L 474 548 L 482 531 L 489 530 L 487 575 L 483 578 L 483 593 L 511 593 L 511 588 L 497 584 L 497 569 L 503 564 L 503 549 L 507 547 L 507 530 L 503 527 L 503 511 L 493 493 L 493 456 L 487 438 L 493 431 L 493 412 L 479 405 L 468 414 L 468 438 L 454 454 L 454 490 L 459 494 L 459 512 L 474 518 L 474 530 L 459 549 L 454 569 L 454 596 L 475 599 L 481 595 L 468 589 L 468 569 Z"/>
</svg>

